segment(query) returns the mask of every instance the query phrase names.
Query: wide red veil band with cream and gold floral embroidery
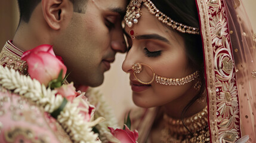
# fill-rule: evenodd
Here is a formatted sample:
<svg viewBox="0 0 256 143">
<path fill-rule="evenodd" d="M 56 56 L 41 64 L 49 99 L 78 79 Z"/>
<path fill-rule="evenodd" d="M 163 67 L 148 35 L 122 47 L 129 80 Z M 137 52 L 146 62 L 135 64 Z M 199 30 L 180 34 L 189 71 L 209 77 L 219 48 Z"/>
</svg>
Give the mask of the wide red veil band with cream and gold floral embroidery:
<svg viewBox="0 0 256 143">
<path fill-rule="evenodd" d="M 211 130 L 212 142 L 235 142 L 241 136 L 239 98 L 224 1 L 204 0 L 198 1 L 198 4 L 201 4 L 199 7 L 204 7 L 208 11 L 208 14 L 205 15 L 208 17 L 209 22 L 203 24 L 208 26 L 209 29 L 202 27 L 202 32 L 205 32 L 202 35 L 205 36 L 209 35 L 209 32 L 211 33 L 211 42 L 209 42 L 209 46 L 205 47 L 205 51 L 208 54 L 213 54 L 214 60 L 213 63 L 208 63 L 214 67 L 212 76 L 215 78 L 213 85 L 215 93 L 208 91 L 209 98 L 212 99 L 209 103 L 211 105 L 209 116 L 217 119 L 217 121 L 214 121 L 215 123 L 210 123 L 211 129 L 214 130 Z M 201 11 L 202 13 L 203 10 Z M 207 45 L 208 41 L 205 39 L 203 42 Z M 212 47 L 212 51 L 209 51 L 209 47 Z M 208 58 L 211 59 L 211 56 L 206 56 L 206 60 L 209 60 Z M 206 68 L 211 71 L 211 67 Z M 208 76 L 208 81 L 211 78 L 211 76 Z M 217 108 L 211 110 L 214 109 L 212 106 Z"/>
</svg>

